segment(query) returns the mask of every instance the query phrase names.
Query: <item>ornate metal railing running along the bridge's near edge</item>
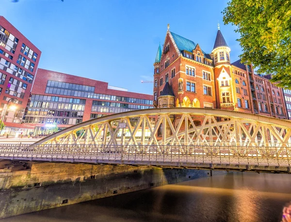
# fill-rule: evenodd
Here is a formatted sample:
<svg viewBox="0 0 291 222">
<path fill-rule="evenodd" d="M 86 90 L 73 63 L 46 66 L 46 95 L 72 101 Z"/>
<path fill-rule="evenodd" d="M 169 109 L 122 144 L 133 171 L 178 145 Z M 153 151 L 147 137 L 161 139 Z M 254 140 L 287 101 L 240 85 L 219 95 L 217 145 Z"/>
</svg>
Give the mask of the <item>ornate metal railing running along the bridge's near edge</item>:
<svg viewBox="0 0 291 222">
<path fill-rule="evenodd" d="M 0 144 L 0 159 L 290 166 L 291 147 Z"/>
</svg>

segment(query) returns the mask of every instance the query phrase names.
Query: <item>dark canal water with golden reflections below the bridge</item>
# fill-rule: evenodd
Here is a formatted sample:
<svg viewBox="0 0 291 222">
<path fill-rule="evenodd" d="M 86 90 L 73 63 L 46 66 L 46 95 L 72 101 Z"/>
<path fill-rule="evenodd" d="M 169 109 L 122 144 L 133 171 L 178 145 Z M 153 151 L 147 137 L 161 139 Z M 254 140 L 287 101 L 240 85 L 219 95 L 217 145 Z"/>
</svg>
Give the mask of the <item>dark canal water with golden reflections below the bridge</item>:
<svg viewBox="0 0 291 222">
<path fill-rule="evenodd" d="M 280 222 L 291 175 L 230 172 L 4 219 L 5 222 Z"/>
</svg>

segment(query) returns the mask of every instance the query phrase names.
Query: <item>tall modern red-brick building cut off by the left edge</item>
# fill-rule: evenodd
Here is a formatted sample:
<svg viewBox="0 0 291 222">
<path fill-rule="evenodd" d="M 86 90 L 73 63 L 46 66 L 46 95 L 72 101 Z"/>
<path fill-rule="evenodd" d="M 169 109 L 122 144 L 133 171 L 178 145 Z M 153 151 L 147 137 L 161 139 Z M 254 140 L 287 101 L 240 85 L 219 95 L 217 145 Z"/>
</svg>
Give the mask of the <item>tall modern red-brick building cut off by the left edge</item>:
<svg viewBox="0 0 291 222">
<path fill-rule="evenodd" d="M 0 118 L 6 126 L 1 130 L 1 135 L 22 127 L 21 120 L 40 56 L 41 51 L 0 16 Z M 11 105 L 16 109 L 12 110 Z"/>
</svg>

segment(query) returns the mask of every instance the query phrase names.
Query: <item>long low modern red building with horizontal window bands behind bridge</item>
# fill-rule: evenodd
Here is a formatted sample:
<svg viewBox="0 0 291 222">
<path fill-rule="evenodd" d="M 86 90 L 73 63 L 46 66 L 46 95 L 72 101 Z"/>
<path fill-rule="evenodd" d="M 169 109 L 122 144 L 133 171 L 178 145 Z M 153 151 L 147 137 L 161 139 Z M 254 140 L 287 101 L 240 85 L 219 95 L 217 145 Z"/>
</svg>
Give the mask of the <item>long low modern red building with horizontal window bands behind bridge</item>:
<svg viewBox="0 0 291 222">
<path fill-rule="evenodd" d="M 153 108 L 153 96 L 128 92 L 94 79 L 38 69 L 27 106 L 25 135 L 47 135 L 112 113 Z"/>
</svg>

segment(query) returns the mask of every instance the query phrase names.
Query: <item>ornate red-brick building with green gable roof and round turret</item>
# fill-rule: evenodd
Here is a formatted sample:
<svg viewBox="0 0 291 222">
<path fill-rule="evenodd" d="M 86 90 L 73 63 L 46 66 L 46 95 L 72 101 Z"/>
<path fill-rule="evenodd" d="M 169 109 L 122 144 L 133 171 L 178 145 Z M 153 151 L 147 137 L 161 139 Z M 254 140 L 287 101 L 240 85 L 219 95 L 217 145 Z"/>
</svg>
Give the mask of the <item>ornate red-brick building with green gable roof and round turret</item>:
<svg viewBox="0 0 291 222">
<path fill-rule="evenodd" d="M 217 108 L 287 119 L 282 89 L 256 75 L 252 65 L 231 63 L 220 30 L 206 53 L 168 29 L 154 63 L 153 95 L 155 107 Z"/>
</svg>

